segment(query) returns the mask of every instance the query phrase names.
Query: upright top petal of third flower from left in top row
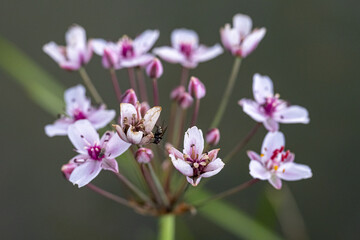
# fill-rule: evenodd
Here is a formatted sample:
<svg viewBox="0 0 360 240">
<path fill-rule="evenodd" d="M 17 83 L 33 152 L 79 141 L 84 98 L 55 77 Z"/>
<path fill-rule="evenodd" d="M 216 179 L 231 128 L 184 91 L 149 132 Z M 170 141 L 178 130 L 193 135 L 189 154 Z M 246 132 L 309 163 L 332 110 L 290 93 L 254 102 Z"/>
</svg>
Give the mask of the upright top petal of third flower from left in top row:
<svg viewBox="0 0 360 240">
<path fill-rule="evenodd" d="M 197 33 L 190 29 L 175 29 L 171 33 L 171 44 L 174 48 L 179 49 L 180 44 L 191 44 L 192 49 L 196 49 L 199 44 L 199 37 Z"/>
</svg>

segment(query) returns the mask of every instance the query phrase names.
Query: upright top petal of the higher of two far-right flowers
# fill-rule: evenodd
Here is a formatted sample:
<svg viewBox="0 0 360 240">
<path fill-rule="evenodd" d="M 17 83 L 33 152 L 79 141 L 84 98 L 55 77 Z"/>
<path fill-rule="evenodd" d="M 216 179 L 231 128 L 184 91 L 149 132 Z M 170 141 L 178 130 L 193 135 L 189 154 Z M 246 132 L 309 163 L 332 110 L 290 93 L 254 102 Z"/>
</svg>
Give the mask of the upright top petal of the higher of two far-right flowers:
<svg viewBox="0 0 360 240">
<path fill-rule="evenodd" d="M 266 98 L 274 96 L 274 86 L 269 76 L 255 73 L 252 87 L 254 98 L 259 104 L 264 104 Z"/>
</svg>

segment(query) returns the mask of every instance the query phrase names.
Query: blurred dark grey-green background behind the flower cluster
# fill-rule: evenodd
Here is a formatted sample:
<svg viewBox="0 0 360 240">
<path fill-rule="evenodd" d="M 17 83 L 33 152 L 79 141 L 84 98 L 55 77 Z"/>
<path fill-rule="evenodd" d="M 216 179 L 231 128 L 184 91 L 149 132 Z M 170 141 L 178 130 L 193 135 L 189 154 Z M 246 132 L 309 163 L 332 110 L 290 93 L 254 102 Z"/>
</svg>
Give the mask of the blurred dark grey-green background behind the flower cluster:
<svg viewBox="0 0 360 240">
<path fill-rule="evenodd" d="M 196 30 L 201 42 L 212 45 L 220 42 L 219 28 L 230 23 L 234 14 L 250 15 L 254 26 L 264 26 L 268 32 L 258 49 L 243 61 L 221 124 L 220 156 L 254 124 L 237 105 L 240 98 L 252 97 L 252 75 L 269 75 L 282 98 L 310 112 L 309 125 L 281 126 L 296 161 L 310 165 L 314 174 L 310 180 L 287 184 L 302 214 L 306 234 L 311 239 L 356 239 L 360 234 L 359 160 L 355 151 L 360 116 L 358 10 L 358 2 L 340 0 L 2 0 L 0 34 L 70 87 L 81 81 L 79 76 L 59 69 L 41 48 L 51 40 L 64 43 L 65 31 L 73 23 L 82 25 L 88 37 L 111 40 L 123 34 L 133 37 L 148 28 L 159 29 L 156 46 L 168 45 L 171 31 L 186 27 Z M 203 130 L 218 107 L 232 62 L 233 58 L 224 53 L 191 71 L 207 87 L 198 124 Z M 21 71 L 22 66 L 17 67 Z M 163 102 L 180 74 L 178 65 L 164 63 L 164 67 L 159 82 Z M 118 111 L 109 74 L 100 59 L 94 57 L 87 69 L 108 106 Z M 125 73 L 118 72 L 123 89 L 128 86 Z M 157 231 L 153 218 L 137 215 L 87 189 L 79 190 L 62 178 L 60 167 L 73 156 L 72 145 L 66 137 L 48 138 L 44 126 L 54 118 L 33 104 L 1 70 L 0 78 L 1 239 L 153 239 Z M 248 149 L 259 151 L 265 133 L 264 129 L 259 131 Z M 248 180 L 248 163 L 242 152 L 207 187 L 220 191 Z M 102 172 L 95 183 L 117 187 L 116 179 L 107 172 Z M 286 210 L 274 218 L 264 192 L 276 198 L 269 184 L 262 182 L 227 200 L 289 236 L 286 231 L 297 229 L 298 218 Z M 190 235 L 193 239 L 236 239 L 200 216 L 184 216 L 178 223 L 177 239 L 192 239 Z"/>
</svg>

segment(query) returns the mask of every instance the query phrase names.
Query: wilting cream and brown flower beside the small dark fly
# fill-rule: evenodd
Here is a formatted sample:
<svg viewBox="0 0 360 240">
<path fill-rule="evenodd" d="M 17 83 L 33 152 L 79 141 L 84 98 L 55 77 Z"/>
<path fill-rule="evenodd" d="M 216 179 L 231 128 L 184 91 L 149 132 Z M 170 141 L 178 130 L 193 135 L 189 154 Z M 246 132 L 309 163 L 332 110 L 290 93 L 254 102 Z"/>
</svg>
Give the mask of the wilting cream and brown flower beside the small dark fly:
<svg viewBox="0 0 360 240">
<path fill-rule="evenodd" d="M 161 107 L 150 108 L 143 115 L 141 105 L 120 103 L 120 125 L 113 125 L 120 138 L 132 144 L 145 145 L 154 138 L 152 130 L 160 116 Z"/>
</svg>

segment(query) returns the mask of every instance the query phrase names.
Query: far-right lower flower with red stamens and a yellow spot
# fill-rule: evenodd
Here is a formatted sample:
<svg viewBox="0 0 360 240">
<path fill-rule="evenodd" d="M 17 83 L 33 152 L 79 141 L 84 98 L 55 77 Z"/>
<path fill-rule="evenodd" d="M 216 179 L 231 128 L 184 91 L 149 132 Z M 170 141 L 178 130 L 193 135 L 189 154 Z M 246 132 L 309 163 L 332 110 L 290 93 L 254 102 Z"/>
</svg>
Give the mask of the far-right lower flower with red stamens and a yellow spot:
<svg viewBox="0 0 360 240">
<path fill-rule="evenodd" d="M 297 181 L 311 178 L 311 169 L 294 163 L 295 155 L 284 151 L 285 137 L 281 132 L 269 132 L 263 141 L 261 155 L 248 151 L 250 175 L 253 178 L 268 180 L 276 189 L 281 189 L 281 179 Z"/>
</svg>

